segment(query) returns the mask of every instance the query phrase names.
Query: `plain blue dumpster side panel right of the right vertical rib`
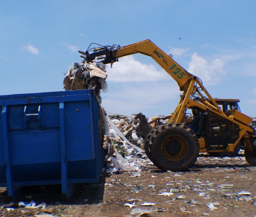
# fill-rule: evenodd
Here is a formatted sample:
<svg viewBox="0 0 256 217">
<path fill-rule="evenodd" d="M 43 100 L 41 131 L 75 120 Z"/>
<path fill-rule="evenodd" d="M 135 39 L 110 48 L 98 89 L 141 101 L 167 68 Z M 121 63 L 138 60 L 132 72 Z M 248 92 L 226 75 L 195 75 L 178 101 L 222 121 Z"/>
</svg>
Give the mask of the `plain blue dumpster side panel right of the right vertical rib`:
<svg viewBox="0 0 256 217">
<path fill-rule="evenodd" d="M 90 101 L 65 104 L 67 179 L 70 183 L 83 182 L 83 179 L 95 177 L 97 172 L 89 168 L 95 159 L 91 106 Z M 84 146 L 84 143 L 91 145 Z"/>
</svg>

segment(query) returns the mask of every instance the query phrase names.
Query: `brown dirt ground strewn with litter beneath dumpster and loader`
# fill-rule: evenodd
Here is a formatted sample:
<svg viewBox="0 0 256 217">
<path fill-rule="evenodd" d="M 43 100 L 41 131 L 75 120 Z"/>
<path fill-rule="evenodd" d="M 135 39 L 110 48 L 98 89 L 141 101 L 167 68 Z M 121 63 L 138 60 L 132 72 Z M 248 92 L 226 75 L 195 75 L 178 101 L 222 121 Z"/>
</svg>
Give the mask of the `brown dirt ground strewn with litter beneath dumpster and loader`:
<svg viewBox="0 0 256 217">
<path fill-rule="evenodd" d="M 203 155 L 175 173 L 145 159 L 139 171 L 78 184 L 69 201 L 61 200 L 60 186 L 22 187 L 16 202 L 0 188 L 0 216 L 256 216 L 255 172 L 243 156 Z"/>
</svg>

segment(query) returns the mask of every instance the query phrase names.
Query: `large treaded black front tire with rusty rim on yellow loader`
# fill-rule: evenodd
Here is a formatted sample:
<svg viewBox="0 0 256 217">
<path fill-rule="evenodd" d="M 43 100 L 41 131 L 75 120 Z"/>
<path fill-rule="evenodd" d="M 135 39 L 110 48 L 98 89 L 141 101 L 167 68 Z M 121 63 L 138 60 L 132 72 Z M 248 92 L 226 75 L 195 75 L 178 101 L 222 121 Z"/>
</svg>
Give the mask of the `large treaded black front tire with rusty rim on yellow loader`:
<svg viewBox="0 0 256 217">
<path fill-rule="evenodd" d="M 150 159 L 162 171 L 186 171 L 199 154 L 197 136 L 184 124 L 161 125 L 153 132 L 151 142 Z"/>
</svg>

